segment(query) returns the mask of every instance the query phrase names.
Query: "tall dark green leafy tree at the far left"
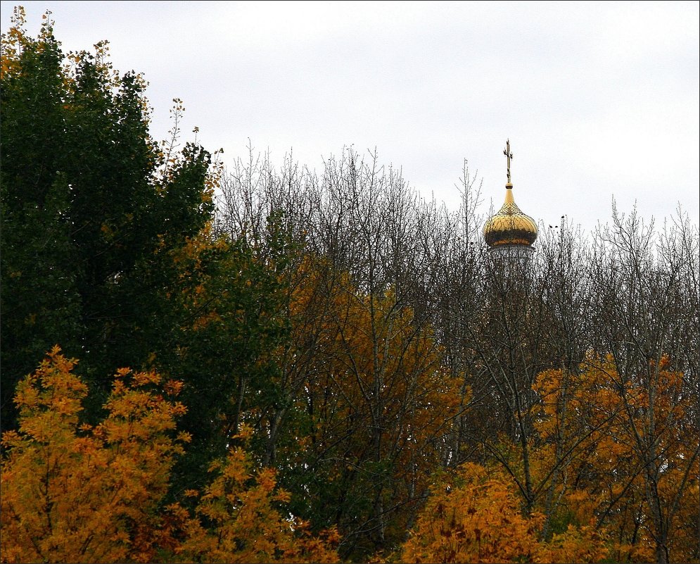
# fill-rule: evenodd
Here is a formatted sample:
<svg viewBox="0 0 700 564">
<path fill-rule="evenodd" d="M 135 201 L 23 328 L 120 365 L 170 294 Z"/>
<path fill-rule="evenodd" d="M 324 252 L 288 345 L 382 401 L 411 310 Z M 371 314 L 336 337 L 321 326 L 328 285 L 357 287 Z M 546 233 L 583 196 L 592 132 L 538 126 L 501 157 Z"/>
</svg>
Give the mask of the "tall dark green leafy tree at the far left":
<svg viewBox="0 0 700 564">
<path fill-rule="evenodd" d="M 213 206 L 205 187 L 209 154 L 188 145 L 165 162 L 148 134 L 144 81 L 116 75 L 105 44 L 95 55 L 65 58 L 47 19 L 37 39 L 11 33 L 3 47 L 1 370 L 8 429 L 15 383 L 54 344 L 81 358 L 80 372 L 93 379 L 144 364 L 174 322 L 160 309 L 163 293 L 177 285 L 169 253 L 201 231 Z M 95 383 L 108 391 L 109 381 Z"/>
</svg>

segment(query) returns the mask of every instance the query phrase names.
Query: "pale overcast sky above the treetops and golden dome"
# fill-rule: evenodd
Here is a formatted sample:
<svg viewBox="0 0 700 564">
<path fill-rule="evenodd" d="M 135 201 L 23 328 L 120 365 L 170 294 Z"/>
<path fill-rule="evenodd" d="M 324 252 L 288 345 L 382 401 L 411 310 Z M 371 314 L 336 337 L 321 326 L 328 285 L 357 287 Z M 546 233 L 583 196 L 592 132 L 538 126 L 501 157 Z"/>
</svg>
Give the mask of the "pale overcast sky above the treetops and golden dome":
<svg viewBox="0 0 700 564">
<path fill-rule="evenodd" d="M 2 1 L 2 31 L 15 2 Z M 165 137 L 172 99 L 224 161 L 269 150 L 317 170 L 376 151 L 457 208 L 464 159 L 498 208 L 506 139 L 514 196 L 545 225 L 586 232 L 637 202 L 700 223 L 700 3 L 24 2 L 64 51 L 108 39 L 143 73 Z"/>
</svg>

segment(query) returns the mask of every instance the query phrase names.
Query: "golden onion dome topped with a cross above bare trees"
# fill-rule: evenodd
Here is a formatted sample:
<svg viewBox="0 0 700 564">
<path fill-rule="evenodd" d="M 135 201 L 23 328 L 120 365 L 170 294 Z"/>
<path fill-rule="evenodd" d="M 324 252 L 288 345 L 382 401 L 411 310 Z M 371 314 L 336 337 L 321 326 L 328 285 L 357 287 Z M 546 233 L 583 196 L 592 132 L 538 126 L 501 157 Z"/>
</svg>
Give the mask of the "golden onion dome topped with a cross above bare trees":
<svg viewBox="0 0 700 564">
<path fill-rule="evenodd" d="M 511 184 L 510 141 L 506 142 L 503 151 L 507 161 L 508 182 L 506 184 L 506 199 L 498 213 L 492 215 L 484 225 L 484 239 L 489 246 L 489 253 L 499 260 L 515 260 L 520 264 L 529 261 L 533 254 L 533 243 L 537 239 L 537 224 L 533 218 L 524 214 L 513 199 L 513 184 Z"/>
</svg>

